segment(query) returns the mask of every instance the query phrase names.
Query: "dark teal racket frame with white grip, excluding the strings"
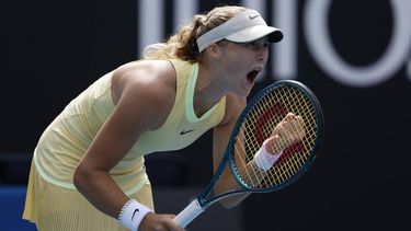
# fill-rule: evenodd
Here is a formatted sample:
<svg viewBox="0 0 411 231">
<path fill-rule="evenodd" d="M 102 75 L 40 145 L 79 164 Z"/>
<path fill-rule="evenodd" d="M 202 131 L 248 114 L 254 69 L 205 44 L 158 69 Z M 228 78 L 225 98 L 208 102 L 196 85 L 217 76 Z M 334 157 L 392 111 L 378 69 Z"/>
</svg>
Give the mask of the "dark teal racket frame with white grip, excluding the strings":
<svg viewBox="0 0 411 231">
<path fill-rule="evenodd" d="M 233 146 L 236 142 L 236 137 L 238 132 L 240 131 L 240 128 L 242 126 L 242 123 L 244 118 L 247 117 L 250 109 L 254 106 L 255 103 L 260 101 L 261 97 L 263 97 L 265 94 L 267 94 L 271 91 L 274 91 L 277 88 L 281 88 L 285 84 L 293 85 L 295 88 L 300 89 L 300 92 L 304 92 L 305 96 L 308 97 L 316 113 L 316 123 L 318 125 L 317 127 L 317 139 L 316 143 L 313 146 L 313 149 L 311 151 L 311 154 L 309 155 L 309 159 L 305 162 L 305 164 L 298 170 L 296 174 L 292 176 L 292 178 L 275 185 L 273 187 L 269 188 L 251 188 L 244 182 L 239 177 L 239 175 L 236 173 L 236 163 L 235 163 L 235 154 L 233 154 Z M 301 82 L 295 81 L 295 80 L 282 80 L 277 81 L 275 83 L 272 83 L 267 86 L 265 86 L 263 90 L 261 90 L 256 95 L 252 97 L 252 100 L 247 104 L 246 108 L 241 112 L 238 120 L 236 122 L 236 125 L 232 129 L 232 135 L 229 139 L 227 149 L 224 153 L 224 157 L 218 165 L 218 169 L 214 173 L 214 176 L 212 181 L 208 183 L 208 185 L 205 187 L 203 193 L 198 194 L 194 200 L 184 208 L 183 211 L 181 211 L 175 218 L 174 222 L 179 224 L 180 227 L 185 228 L 192 220 L 194 220 L 198 215 L 201 215 L 208 206 L 213 205 L 214 203 L 228 197 L 232 196 L 235 194 L 241 194 L 241 193 L 269 193 L 273 190 L 278 190 L 281 188 L 286 187 L 287 185 L 294 183 L 297 178 L 299 178 L 312 164 L 313 160 L 317 157 L 317 153 L 319 152 L 319 149 L 321 147 L 322 140 L 323 140 L 323 114 L 320 106 L 319 101 L 317 100 L 316 95 L 312 93 L 312 91 L 302 84 Z M 221 193 L 219 195 L 215 195 L 214 197 L 209 198 L 215 184 L 220 178 L 222 171 L 226 169 L 228 163 L 228 166 L 230 168 L 232 176 L 236 178 L 237 183 L 241 186 L 241 189 L 231 189 L 225 193 Z"/>
</svg>

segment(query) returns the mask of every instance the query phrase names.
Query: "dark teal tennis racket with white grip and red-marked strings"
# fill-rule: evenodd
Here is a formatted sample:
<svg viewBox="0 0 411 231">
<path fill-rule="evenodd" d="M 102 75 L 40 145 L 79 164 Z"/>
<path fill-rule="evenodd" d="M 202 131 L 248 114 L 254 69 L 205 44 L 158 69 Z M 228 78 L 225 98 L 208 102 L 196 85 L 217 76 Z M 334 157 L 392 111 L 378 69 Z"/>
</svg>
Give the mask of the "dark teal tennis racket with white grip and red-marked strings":
<svg viewBox="0 0 411 231">
<path fill-rule="evenodd" d="M 288 113 L 304 120 L 305 136 L 287 146 L 269 170 L 250 168 L 254 154 L 272 136 Z M 259 92 L 246 106 L 232 130 L 222 160 L 213 180 L 174 222 L 185 228 L 212 204 L 239 193 L 267 193 L 286 187 L 305 173 L 313 162 L 323 139 L 323 115 L 316 95 L 305 84 L 283 80 Z M 254 164 L 255 166 L 255 164 Z M 222 171 L 230 168 L 240 189 L 213 195 Z"/>
</svg>

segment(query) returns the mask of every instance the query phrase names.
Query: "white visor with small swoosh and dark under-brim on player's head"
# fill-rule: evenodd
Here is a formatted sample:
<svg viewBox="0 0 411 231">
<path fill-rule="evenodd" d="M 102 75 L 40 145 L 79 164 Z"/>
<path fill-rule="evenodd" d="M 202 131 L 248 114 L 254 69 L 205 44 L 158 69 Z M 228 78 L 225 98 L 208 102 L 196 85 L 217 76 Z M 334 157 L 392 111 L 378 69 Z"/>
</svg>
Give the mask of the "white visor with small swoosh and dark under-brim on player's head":
<svg viewBox="0 0 411 231">
<path fill-rule="evenodd" d="M 235 43 L 249 43 L 264 36 L 269 36 L 270 42 L 277 43 L 283 39 L 283 32 L 269 26 L 258 11 L 246 10 L 199 36 L 197 46 L 201 53 L 208 45 L 224 38 Z"/>
</svg>

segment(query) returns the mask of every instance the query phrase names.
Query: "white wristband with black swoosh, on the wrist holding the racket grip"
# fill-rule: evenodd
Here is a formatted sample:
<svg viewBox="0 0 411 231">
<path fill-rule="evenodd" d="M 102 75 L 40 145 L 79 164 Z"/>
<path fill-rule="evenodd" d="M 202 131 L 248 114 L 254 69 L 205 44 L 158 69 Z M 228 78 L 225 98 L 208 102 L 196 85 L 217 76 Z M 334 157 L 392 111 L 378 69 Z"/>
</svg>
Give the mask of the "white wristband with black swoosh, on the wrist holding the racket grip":
<svg viewBox="0 0 411 231">
<path fill-rule="evenodd" d="M 137 200 L 130 199 L 124 204 L 118 215 L 118 221 L 123 227 L 132 231 L 137 231 L 148 212 L 152 212 L 152 210 L 137 203 Z"/>
</svg>

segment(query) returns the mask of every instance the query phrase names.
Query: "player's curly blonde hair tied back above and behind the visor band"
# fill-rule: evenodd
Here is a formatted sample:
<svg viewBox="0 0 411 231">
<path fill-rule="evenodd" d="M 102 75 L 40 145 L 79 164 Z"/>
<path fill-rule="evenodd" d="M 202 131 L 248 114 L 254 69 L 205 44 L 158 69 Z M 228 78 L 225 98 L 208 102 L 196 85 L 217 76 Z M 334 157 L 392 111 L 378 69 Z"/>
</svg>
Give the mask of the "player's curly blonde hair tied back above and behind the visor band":
<svg viewBox="0 0 411 231">
<path fill-rule="evenodd" d="M 196 62 L 199 59 L 196 39 L 243 10 L 246 10 L 243 7 L 225 5 L 214 8 L 207 14 L 196 14 L 192 22 L 183 25 L 178 33 L 172 35 L 165 43 L 147 46 L 142 51 L 142 57 L 150 59 L 179 58 Z"/>
</svg>

